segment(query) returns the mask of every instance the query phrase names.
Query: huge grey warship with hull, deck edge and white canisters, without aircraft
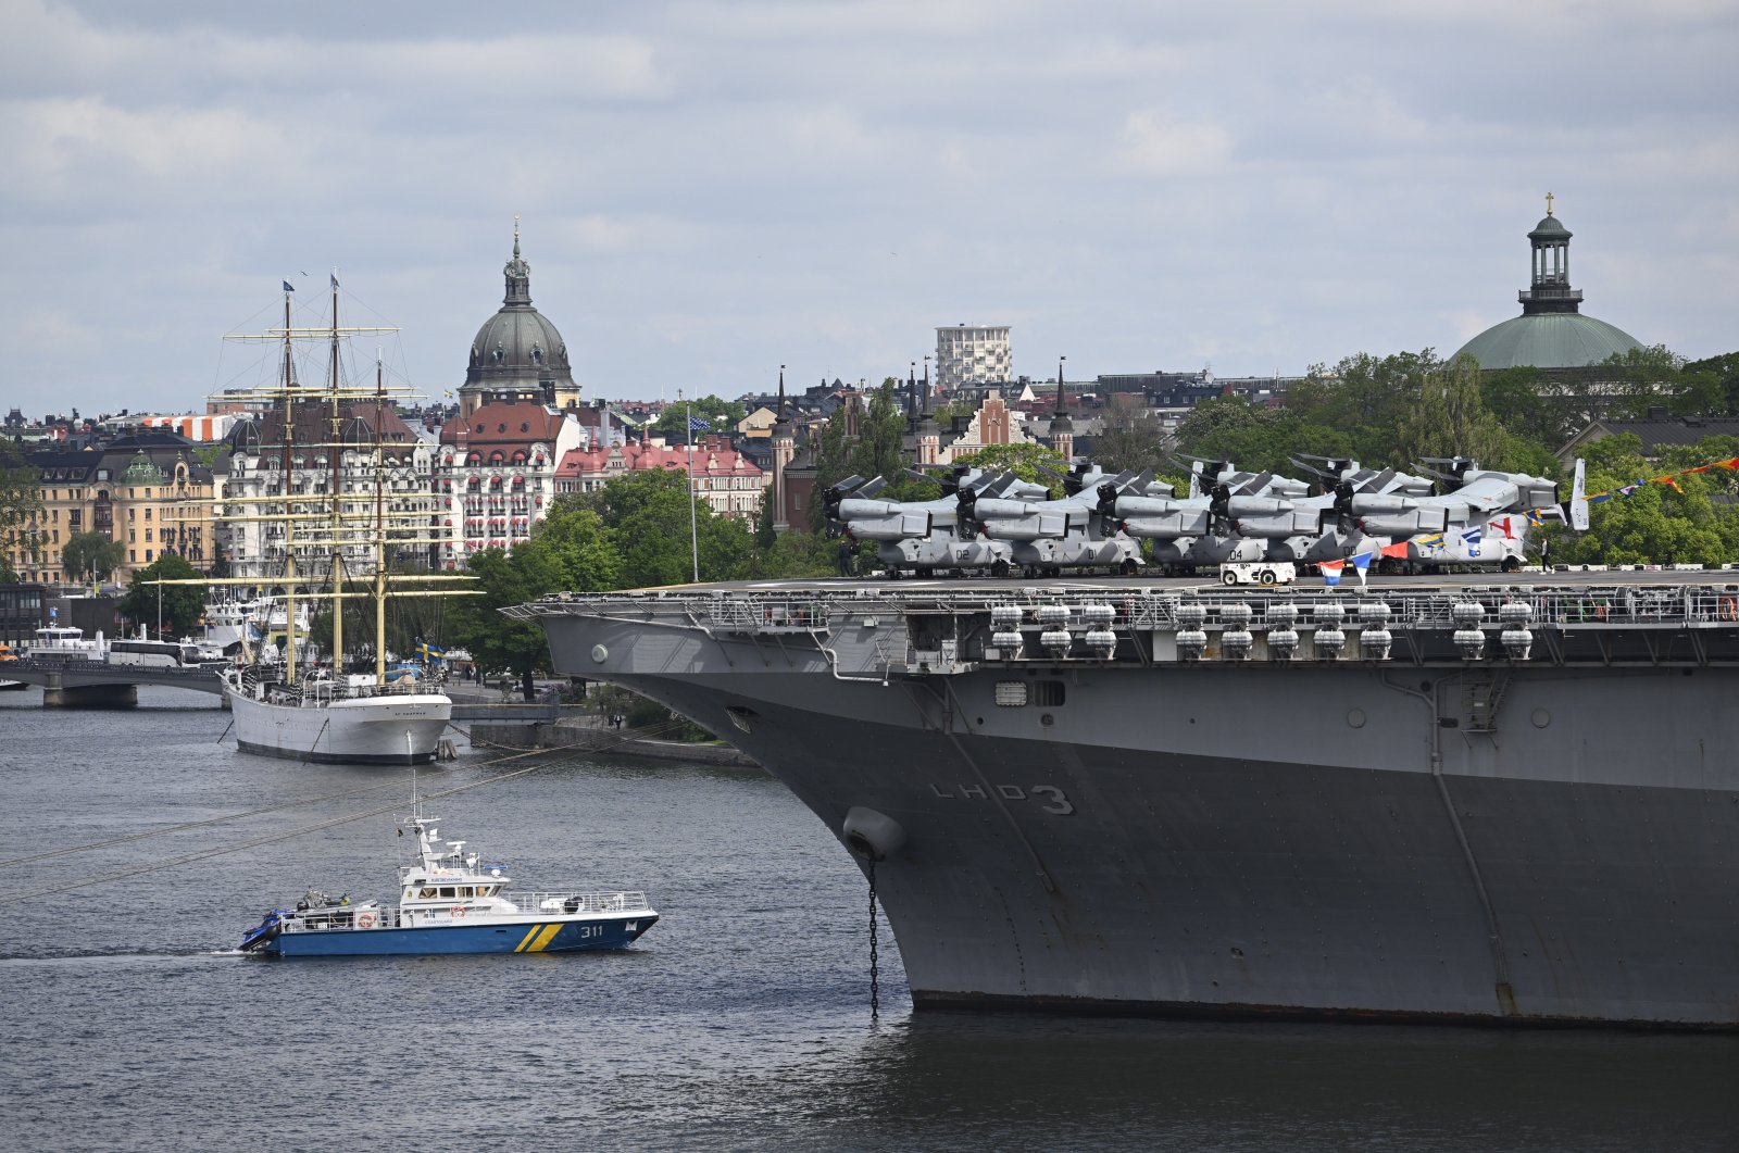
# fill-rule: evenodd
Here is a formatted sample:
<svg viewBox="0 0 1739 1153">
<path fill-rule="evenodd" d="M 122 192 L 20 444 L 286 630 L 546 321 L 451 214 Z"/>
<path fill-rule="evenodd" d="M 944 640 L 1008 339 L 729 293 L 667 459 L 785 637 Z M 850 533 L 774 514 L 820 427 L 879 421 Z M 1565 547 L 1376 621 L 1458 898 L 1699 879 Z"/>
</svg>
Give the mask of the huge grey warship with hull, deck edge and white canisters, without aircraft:
<svg viewBox="0 0 1739 1153">
<path fill-rule="evenodd" d="M 558 595 L 784 781 L 913 1003 L 1739 1026 L 1739 574 Z"/>
</svg>

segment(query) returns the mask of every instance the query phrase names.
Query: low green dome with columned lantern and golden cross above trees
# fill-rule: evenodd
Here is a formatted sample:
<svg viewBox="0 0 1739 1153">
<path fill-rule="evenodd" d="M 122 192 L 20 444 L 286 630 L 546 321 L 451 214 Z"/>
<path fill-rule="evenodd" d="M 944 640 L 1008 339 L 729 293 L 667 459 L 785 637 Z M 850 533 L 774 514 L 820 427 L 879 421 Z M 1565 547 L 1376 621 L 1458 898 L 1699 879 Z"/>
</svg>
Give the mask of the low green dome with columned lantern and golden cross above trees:
<svg viewBox="0 0 1739 1153">
<path fill-rule="evenodd" d="M 1642 348 L 1629 332 L 1582 315 L 1582 292 L 1570 287 L 1570 230 L 1551 209 L 1527 235 L 1532 283 L 1522 289 L 1522 315 L 1492 325 L 1461 346 L 1482 369 L 1586 369 L 1614 353 Z"/>
</svg>

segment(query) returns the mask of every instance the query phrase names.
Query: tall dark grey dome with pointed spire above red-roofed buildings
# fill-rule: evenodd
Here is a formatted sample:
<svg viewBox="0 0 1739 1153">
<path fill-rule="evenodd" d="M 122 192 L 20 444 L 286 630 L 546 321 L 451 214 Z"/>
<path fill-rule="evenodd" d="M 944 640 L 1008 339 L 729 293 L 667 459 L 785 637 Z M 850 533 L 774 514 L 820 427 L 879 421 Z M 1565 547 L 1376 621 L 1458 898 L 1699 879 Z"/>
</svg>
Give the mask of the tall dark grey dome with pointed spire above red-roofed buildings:
<svg viewBox="0 0 1739 1153">
<path fill-rule="evenodd" d="M 513 217 L 513 259 L 501 310 L 471 341 L 471 360 L 459 386 L 459 410 L 470 416 L 490 400 L 530 400 L 558 409 L 579 407 L 579 386 L 567 358 L 567 341 L 548 317 L 532 308 L 532 266 L 520 256 L 520 221 Z"/>
</svg>

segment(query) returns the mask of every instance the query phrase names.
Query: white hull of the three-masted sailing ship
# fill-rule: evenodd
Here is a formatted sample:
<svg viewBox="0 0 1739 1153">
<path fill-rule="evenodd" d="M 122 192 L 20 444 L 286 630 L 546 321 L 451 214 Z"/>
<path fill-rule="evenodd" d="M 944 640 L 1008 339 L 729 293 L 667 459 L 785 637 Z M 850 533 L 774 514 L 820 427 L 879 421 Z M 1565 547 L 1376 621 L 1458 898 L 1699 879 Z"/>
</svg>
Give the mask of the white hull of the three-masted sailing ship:
<svg viewBox="0 0 1739 1153">
<path fill-rule="evenodd" d="M 256 701 L 226 682 L 237 746 L 261 756 L 346 765 L 419 765 L 435 760 L 452 718 L 443 694 L 388 694 L 322 706 Z"/>
</svg>

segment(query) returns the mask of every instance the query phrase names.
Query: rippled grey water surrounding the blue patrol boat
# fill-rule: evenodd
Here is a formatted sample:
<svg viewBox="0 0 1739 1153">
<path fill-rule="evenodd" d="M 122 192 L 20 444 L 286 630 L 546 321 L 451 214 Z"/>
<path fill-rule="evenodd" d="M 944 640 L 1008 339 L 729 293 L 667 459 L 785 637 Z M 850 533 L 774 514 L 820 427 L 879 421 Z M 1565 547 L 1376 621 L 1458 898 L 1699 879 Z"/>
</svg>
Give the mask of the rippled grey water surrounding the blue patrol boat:
<svg viewBox="0 0 1739 1153">
<path fill-rule="evenodd" d="M 228 713 L 0 694 L 0 861 L 405 779 L 219 744 Z M 181 708 L 184 704 L 193 708 Z M 421 774 L 426 791 L 513 765 Z M 308 885 L 388 897 L 398 784 L 7 864 L 5 1144 L 1732 1150 L 1739 1038 L 913 1016 L 836 842 L 756 772 L 576 762 L 431 805 L 523 887 L 645 889 L 623 953 L 263 960 Z M 47 897 L 40 889 L 104 878 Z M 1739 958 L 1736 958 L 1739 963 Z"/>
</svg>

